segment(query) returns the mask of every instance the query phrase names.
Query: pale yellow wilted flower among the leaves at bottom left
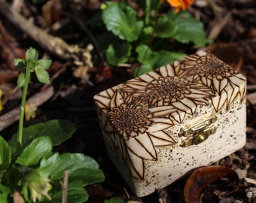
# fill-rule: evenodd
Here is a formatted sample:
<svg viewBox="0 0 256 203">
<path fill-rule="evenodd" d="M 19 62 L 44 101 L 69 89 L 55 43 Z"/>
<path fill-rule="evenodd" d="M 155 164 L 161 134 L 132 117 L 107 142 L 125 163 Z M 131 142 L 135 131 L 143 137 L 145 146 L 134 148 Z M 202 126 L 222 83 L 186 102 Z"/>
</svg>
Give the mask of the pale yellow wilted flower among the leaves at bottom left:
<svg viewBox="0 0 256 203">
<path fill-rule="evenodd" d="M 50 180 L 47 177 L 42 177 L 38 182 L 28 183 L 33 202 L 40 200 L 42 195 L 44 195 L 48 200 L 51 200 L 48 191 L 52 189 L 52 186 L 49 182 Z"/>
</svg>

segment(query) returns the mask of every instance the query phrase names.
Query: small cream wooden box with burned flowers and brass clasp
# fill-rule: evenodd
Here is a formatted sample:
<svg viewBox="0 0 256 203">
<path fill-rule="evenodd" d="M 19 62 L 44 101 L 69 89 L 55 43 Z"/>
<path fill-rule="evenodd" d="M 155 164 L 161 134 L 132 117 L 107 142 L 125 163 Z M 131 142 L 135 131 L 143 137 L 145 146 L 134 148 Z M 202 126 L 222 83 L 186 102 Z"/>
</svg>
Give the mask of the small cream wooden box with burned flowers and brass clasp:
<svg viewBox="0 0 256 203">
<path fill-rule="evenodd" d="M 94 97 L 111 161 L 148 195 L 245 144 L 246 79 L 205 51 Z"/>
</svg>

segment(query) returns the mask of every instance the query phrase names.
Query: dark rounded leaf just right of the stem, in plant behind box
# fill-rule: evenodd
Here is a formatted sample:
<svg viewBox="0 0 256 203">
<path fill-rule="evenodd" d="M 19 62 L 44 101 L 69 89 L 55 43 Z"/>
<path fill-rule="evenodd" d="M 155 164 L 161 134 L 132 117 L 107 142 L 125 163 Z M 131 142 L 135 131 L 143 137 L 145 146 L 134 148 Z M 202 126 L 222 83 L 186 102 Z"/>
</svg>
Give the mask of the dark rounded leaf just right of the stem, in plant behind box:
<svg viewBox="0 0 256 203">
<path fill-rule="evenodd" d="M 178 30 L 177 24 L 173 20 L 169 20 L 168 17 L 160 17 L 158 20 L 157 31 L 155 33 L 156 38 L 170 38 Z"/>
</svg>

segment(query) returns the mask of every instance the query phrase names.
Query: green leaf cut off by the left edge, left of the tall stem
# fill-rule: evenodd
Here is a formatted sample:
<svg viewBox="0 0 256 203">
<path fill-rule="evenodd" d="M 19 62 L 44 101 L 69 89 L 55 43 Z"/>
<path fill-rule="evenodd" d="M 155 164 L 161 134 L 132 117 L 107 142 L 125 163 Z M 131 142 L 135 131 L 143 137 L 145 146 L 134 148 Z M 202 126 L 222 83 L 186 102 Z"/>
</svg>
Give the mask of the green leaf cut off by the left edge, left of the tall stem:
<svg viewBox="0 0 256 203">
<path fill-rule="evenodd" d="M 11 163 L 11 147 L 8 142 L 0 136 L 0 171 L 8 169 Z M 1 177 L 0 177 L 1 179 Z"/>
</svg>

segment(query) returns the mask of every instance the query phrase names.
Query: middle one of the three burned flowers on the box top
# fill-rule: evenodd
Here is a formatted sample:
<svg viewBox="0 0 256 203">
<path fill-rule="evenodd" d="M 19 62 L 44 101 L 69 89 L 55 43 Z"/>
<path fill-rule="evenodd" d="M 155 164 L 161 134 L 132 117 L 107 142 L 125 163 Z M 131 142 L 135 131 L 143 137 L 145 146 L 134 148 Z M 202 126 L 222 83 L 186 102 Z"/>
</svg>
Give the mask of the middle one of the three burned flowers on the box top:
<svg viewBox="0 0 256 203">
<path fill-rule="evenodd" d="M 172 117 L 178 123 L 185 114 L 194 114 L 198 105 L 208 105 L 214 95 L 208 86 L 180 77 L 171 64 L 130 80 L 120 89 L 147 103 L 152 113 Z"/>
</svg>

